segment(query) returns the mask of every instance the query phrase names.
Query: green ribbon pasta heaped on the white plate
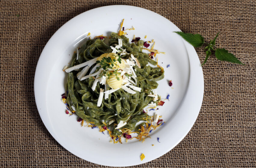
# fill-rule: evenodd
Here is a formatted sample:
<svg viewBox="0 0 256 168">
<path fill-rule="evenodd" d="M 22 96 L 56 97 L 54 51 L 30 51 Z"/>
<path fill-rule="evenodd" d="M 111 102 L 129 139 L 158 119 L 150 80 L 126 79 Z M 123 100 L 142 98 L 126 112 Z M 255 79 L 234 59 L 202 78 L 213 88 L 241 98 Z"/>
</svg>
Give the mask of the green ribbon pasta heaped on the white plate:
<svg viewBox="0 0 256 168">
<path fill-rule="evenodd" d="M 136 44 L 130 44 L 128 38 L 124 35 L 118 36 L 117 33 L 111 33 L 109 45 L 105 43 L 104 39 L 88 40 L 86 44 L 79 49 L 80 54 L 78 60 L 76 60 L 76 54 L 73 55 L 70 67 L 99 57 L 101 54 L 112 52 L 110 46 L 118 44 L 118 39 L 122 39 L 122 48 L 126 49 L 128 53 L 122 55 L 121 58 L 128 59 L 130 55 L 133 54 L 141 65 L 141 68 L 138 68 L 137 65 L 133 66 L 136 69 L 137 87 L 142 88 L 141 92 L 136 91 L 135 94 L 130 94 L 120 88 L 111 93 L 108 99 L 105 100 L 103 98 L 101 106 L 97 107 L 100 88 L 104 89 L 105 86 L 97 83 L 96 89 L 92 91 L 91 88 L 95 78 L 89 77 L 88 79 L 80 81 L 76 77 L 78 71 L 73 70 L 68 73 L 67 78 L 67 104 L 69 107 L 75 107 L 76 114 L 79 117 L 87 122 L 94 122 L 97 126 L 104 126 L 102 123 L 102 121 L 104 121 L 107 123 L 108 127 L 114 126 L 115 128 L 120 121 L 126 121 L 127 124 L 122 128 L 134 130 L 136 123 L 142 120 L 145 121 L 145 118 L 148 116 L 147 113 L 143 113 L 143 108 L 153 101 L 153 97 L 147 95 L 153 93 L 152 89 L 158 87 L 157 81 L 164 78 L 164 71 L 160 67 L 153 68 L 148 65 L 148 63 L 156 65 L 157 62 L 150 59 L 147 53 L 142 52 L 142 40 L 138 41 Z M 89 74 L 94 66 L 95 65 L 90 67 L 86 75 Z M 82 69 L 83 68 L 80 68 L 79 71 Z M 110 89 L 111 88 L 108 87 L 108 90 Z M 148 118 L 150 118 L 150 116 L 148 116 Z M 115 119 L 115 122 L 108 125 L 108 122 L 112 119 Z M 114 135 L 122 134 L 115 129 L 112 132 Z"/>
</svg>

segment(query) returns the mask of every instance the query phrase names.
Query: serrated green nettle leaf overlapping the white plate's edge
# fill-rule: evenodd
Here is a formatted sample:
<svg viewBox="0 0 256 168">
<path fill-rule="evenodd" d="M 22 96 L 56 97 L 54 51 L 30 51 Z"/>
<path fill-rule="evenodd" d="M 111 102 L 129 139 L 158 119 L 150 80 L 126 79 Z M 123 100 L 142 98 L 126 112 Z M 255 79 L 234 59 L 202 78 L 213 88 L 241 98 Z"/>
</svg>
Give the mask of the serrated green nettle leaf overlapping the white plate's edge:
<svg viewBox="0 0 256 168">
<path fill-rule="evenodd" d="M 201 47 L 204 44 L 204 38 L 200 34 L 175 32 L 180 35 L 184 40 L 189 42 L 194 47 Z"/>
</svg>

